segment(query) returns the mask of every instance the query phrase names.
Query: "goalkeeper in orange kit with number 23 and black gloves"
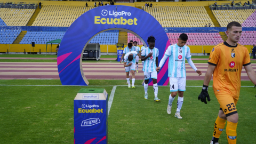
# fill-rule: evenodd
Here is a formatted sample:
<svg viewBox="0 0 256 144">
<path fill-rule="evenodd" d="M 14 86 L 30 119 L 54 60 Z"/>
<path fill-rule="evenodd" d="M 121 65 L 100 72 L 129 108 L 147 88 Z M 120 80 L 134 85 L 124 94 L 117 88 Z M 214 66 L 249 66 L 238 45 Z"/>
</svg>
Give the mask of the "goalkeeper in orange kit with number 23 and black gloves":
<svg viewBox="0 0 256 144">
<path fill-rule="evenodd" d="M 243 66 L 252 83 L 256 84 L 256 73 L 251 66 L 249 52 L 245 46 L 237 44 L 242 34 L 242 26 L 236 21 L 230 22 L 226 33 L 227 41 L 212 49 L 204 76 L 203 89 L 198 97 L 198 100 L 204 103 L 207 103 L 206 98 L 208 101 L 211 100 L 207 91 L 213 74 L 212 87 L 220 103 L 220 110 L 215 121 L 211 144 L 218 143 L 226 121 L 228 121 L 226 127 L 228 143 L 236 143 L 238 123 L 236 103 L 239 98 Z"/>
</svg>

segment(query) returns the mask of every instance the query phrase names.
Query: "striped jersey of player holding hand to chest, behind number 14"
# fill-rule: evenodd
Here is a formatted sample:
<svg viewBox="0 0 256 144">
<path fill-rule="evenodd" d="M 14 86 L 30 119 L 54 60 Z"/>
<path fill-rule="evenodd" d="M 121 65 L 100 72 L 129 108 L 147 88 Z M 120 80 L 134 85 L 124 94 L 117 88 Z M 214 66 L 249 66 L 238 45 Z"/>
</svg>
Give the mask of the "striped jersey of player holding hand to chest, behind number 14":
<svg viewBox="0 0 256 144">
<path fill-rule="evenodd" d="M 148 47 L 141 52 L 141 56 L 147 56 L 150 52 L 153 52 L 152 56 L 144 61 L 143 71 L 152 72 L 156 71 L 156 57 L 159 55 L 159 51 L 156 47 L 150 50 Z"/>
</svg>

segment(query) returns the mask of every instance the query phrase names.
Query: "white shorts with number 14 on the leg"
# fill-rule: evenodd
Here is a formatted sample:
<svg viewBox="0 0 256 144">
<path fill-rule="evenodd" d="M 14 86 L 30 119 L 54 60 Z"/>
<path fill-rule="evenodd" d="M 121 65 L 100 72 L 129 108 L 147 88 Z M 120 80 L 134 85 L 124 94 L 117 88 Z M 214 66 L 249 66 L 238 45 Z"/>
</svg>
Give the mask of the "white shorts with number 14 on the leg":
<svg viewBox="0 0 256 144">
<path fill-rule="evenodd" d="M 169 77 L 170 92 L 186 91 L 186 77 Z"/>
</svg>

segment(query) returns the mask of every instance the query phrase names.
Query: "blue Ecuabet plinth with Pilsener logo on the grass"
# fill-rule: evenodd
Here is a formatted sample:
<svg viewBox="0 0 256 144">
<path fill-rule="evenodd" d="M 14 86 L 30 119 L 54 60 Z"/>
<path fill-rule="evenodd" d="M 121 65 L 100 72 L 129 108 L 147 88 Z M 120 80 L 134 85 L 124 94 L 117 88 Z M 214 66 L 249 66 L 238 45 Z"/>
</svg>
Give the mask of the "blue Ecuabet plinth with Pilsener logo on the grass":
<svg viewBox="0 0 256 144">
<path fill-rule="evenodd" d="M 74 143 L 108 142 L 108 93 L 81 89 L 74 99 Z"/>
</svg>

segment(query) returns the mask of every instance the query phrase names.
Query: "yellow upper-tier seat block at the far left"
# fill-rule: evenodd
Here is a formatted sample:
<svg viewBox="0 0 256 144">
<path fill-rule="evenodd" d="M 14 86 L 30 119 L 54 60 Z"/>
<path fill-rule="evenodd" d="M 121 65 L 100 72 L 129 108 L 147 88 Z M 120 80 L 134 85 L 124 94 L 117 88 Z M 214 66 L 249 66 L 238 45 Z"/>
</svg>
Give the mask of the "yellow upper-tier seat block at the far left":
<svg viewBox="0 0 256 144">
<path fill-rule="evenodd" d="M 35 9 L 1 8 L 0 18 L 7 26 L 26 26 Z"/>
</svg>

